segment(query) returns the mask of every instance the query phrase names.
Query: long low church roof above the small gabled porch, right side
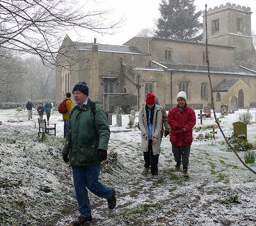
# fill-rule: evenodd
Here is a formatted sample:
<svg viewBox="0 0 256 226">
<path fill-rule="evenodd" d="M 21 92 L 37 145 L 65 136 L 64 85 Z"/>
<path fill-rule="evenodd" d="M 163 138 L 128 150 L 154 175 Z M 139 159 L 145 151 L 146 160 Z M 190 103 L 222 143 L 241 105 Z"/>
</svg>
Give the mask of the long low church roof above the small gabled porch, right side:
<svg viewBox="0 0 256 226">
<path fill-rule="evenodd" d="M 163 66 L 167 66 L 168 70 L 174 72 L 195 72 L 195 73 L 208 73 L 207 65 L 189 65 L 189 64 L 166 64 L 161 63 Z M 210 66 L 210 74 L 232 74 L 232 75 L 250 75 L 256 76 L 256 72 L 243 66 L 238 67 L 221 67 Z"/>
</svg>

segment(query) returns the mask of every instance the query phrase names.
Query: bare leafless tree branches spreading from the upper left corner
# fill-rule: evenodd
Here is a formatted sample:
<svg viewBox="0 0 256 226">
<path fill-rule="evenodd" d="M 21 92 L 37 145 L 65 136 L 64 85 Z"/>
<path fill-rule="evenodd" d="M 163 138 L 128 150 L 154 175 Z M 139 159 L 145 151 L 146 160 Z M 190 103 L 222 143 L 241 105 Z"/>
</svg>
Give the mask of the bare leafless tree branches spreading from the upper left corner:
<svg viewBox="0 0 256 226">
<path fill-rule="evenodd" d="M 108 23 L 108 13 L 83 12 L 76 0 L 0 0 L 0 47 L 36 54 L 44 63 L 58 65 L 54 57 L 63 33 L 76 29 L 109 33 L 118 22 Z"/>
</svg>

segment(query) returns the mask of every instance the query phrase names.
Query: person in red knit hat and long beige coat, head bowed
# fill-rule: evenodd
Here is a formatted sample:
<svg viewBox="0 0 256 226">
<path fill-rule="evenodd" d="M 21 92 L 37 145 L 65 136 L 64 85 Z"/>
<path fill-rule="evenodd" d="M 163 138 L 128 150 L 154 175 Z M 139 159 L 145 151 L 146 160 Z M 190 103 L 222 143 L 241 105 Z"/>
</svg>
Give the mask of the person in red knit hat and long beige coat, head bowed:
<svg viewBox="0 0 256 226">
<path fill-rule="evenodd" d="M 143 104 L 139 112 L 139 124 L 141 131 L 141 151 L 143 152 L 145 164 L 144 174 L 148 174 L 151 166 L 151 174 L 158 177 L 158 158 L 161 145 L 162 113 L 156 104 L 156 97 L 148 93 L 146 104 Z"/>
</svg>

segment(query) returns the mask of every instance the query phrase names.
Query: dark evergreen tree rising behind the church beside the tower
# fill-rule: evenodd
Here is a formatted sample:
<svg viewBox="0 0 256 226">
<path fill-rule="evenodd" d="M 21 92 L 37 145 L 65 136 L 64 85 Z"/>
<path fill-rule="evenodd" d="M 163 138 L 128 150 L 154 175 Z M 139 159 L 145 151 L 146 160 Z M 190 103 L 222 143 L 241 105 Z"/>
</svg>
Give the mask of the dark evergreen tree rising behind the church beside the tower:
<svg viewBox="0 0 256 226">
<path fill-rule="evenodd" d="M 157 20 L 157 37 L 202 40 L 202 35 L 198 35 L 202 29 L 202 23 L 199 22 L 202 11 L 196 12 L 194 0 L 162 0 L 159 11 L 161 17 Z"/>
</svg>

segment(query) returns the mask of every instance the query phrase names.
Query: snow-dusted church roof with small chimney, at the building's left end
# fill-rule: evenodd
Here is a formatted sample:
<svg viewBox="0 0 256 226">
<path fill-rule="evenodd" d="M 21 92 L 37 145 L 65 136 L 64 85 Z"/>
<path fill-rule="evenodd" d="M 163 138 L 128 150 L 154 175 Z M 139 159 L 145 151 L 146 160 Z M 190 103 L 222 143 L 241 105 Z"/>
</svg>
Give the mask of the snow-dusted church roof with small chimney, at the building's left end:
<svg viewBox="0 0 256 226">
<path fill-rule="evenodd" d="M 92 50 L 93 45 L 98 46 L 98 51 L 102 52 L 124 52 L 132 54 L 142 54 L 136 47 L 129 47 L 127 45 L 108 45 L 108 44 L 93 44 L 93 43 L 84 43 L 79 41 L 74 41 L 77 49 L 81 50 Z"/>
</svg>

